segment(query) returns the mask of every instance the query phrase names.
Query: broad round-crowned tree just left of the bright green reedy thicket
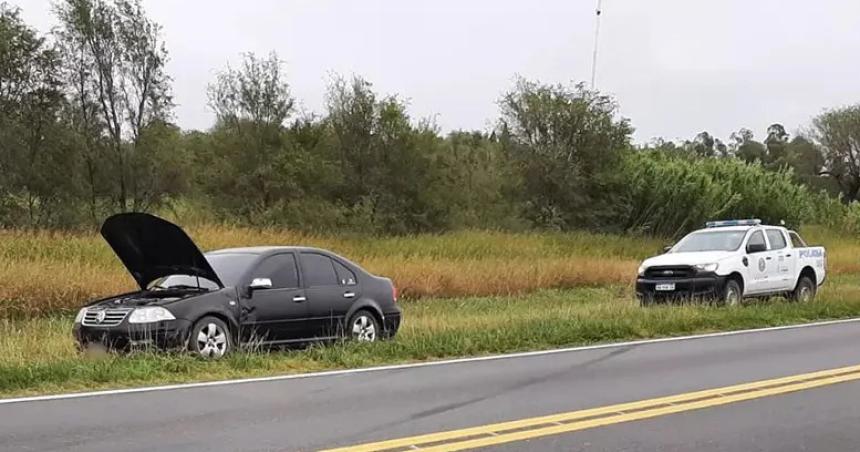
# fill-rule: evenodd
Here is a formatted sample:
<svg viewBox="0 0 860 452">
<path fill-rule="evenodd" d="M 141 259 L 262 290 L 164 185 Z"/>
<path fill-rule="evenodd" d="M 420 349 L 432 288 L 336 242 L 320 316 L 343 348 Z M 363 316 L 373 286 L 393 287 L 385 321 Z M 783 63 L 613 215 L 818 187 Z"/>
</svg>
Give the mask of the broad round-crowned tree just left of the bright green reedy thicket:
<svg viewBox="0 0 860 452">
<path fill-rule="evenodd" d="M 523 181 L 529 220 L 598 227 L 613 215 L 621 153 L 633 128 L 609 97 L 585 88 L 519 79 L 501 101 L 499 130 Z"/>
</svg>

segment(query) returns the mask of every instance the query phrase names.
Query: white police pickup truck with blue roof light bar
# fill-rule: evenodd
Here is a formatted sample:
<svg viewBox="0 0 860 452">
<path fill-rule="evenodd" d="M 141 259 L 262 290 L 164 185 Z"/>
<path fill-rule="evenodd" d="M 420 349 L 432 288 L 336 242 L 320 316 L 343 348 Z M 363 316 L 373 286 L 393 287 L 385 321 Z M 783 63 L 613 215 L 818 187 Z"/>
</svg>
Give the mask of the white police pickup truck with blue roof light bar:
<svg viewBox="0 0 860 452">
<path fill-rule="evenodd" d="M 795 231 L 760 220 L 708 222 L 639 267 L 643 305 L 709 298 L 737 305 L 745 297 L 785 295 L 810 301 L 824 283 L 827 253 Z"/>
</svg>

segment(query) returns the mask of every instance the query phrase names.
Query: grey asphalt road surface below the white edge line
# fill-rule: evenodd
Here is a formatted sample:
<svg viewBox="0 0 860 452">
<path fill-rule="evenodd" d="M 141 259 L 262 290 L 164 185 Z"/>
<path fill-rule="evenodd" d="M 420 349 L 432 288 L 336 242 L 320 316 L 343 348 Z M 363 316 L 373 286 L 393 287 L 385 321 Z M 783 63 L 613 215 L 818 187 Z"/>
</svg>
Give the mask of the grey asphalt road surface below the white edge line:
<svg viewBox="0 0 860 452">
<path fill-rule="evenodd" d="M 0 404 L 0 450 L 316 450 L 860 364 L 860 322 L 294 380 Z M 856 450 L 860 382 L 495 446 Z"/>
</svg>

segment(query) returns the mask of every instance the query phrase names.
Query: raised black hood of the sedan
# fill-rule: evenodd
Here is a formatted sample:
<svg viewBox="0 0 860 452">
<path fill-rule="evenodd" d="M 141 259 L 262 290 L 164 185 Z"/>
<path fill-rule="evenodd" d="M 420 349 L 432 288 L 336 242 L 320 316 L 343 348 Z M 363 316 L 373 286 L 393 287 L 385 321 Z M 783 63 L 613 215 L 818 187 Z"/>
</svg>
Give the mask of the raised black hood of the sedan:
<svg viewBox="0 0 860 452">
<path fill-rule="evenodd" d="M 224 287 L 188 234 L 169 221 L 146 213 L 121 213 L 105 220 L 101 234 L 141 289 L 177 274 Z"/>
</svg>

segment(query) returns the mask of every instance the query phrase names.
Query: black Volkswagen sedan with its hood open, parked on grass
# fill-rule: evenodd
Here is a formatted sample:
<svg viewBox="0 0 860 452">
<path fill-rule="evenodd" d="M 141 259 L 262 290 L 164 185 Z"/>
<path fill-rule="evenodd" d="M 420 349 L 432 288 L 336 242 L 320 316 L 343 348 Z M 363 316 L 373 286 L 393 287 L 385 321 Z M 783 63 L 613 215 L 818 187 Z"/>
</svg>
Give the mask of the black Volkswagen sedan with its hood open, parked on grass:
<svg viewBox="0 0 860 452">
<path fill-rule="evenodd" d="M 308 247 L 231 248 L 205 255 L 178 226 L 126 213 L 102 236 L 140 290 L 81 309 L 81 348 L 187 348 L 217 358 L 238 344 L 349 337 L 375 341 L 400 326 L 397 289 L 349 260 Z"/>
</svg>

